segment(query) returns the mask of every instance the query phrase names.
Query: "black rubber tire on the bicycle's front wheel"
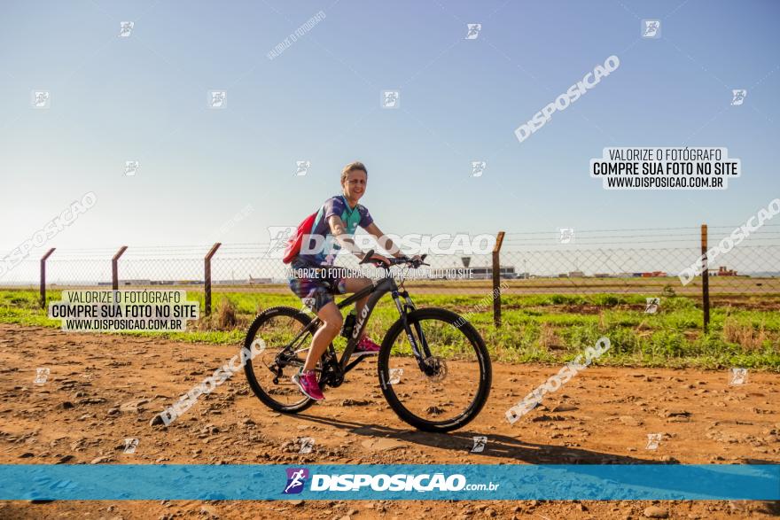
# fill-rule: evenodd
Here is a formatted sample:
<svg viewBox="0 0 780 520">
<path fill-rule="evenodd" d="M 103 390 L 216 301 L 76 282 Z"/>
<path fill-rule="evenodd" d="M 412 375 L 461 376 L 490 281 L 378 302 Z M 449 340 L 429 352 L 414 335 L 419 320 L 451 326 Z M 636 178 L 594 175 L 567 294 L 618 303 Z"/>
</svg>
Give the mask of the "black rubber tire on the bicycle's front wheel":
<svg viewBox="0 0 780 520">
<path fill-rule="evenodd" d="M 399 319 L 397 322 L 394 322 L 389 330 L 387 330 L 385 338 L 382 340 L 382 346 L 379 350 L 377 361 L 379 387 L 382 389 L 382 393 L 385 395 L 387 404 L 393 408 L 393 411 L 396 415 L 401 417 L 402 421 L 414 426 L 417 428 L 417 430 L 420 431 L 446 432 L 463 428 L 466 424 L 471 423 L 472 420 L 480 414 L 480 411 L 482 410 L 482 407 L 485 406 L 487 397 L 490 394 L 490 385 L 492 383 L 493 373 L 490 363 L 490 356 L 487 353 L 487 346 L 485 346 L 484 340 L 470 322 L 465 321 L 463 318 L 461 318 L 461 316 L 448 311 L 447 309 L 437 307 L 417 309 L 416 311 L 407 314 L 406 319 L 409 322 L 409 325 L 412 326 L 417 321 L 433 319 L 446 322 L 454 327 L 456 326 L 456 322 L 463 320 L 463 324 L 461 324 L 459 327 L 456 327 L 456 329 L 464 333 L 465 337 L 469 340 L 469 342 L 474 347 L 475 352 L 477 353 L 477 358 L 480 362 L 480 386 L 476 392 L 476 395 L 474 396 L 474 399 L 472 400 L 471 405 L 455 419 L 449 419 L 447 421 L 428 421 L 411 413 L 406 407 L 403 406 L 402 402 L 395 395 L 393 384 L 388 383 L 390 380 L 388 364 L 390 360 L 390 351 L 392 350 L 392 347 L 398 336 L 405 334 L 403 321 L 402 319 Z"/>
</svg>

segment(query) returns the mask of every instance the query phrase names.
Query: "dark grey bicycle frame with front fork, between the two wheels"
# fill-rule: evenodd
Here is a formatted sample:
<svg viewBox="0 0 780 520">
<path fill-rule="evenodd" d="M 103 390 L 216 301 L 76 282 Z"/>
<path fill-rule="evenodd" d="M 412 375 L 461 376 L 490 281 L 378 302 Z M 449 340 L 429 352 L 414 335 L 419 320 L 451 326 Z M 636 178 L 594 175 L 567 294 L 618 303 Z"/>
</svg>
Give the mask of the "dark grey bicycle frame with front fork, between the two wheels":
<svg viewBox="0 0 780 520">
<path fill-rule="evenodd" d="M 349 372 L 351 369 L 354 369 L 355 366 L 363 361 L 363 359 L 366 357 L 361 356 L 355 359 L 355 361 L 352 361 L 351 363 L 349 362 L 350 357 L 352 357 L 352 353 L 355 352 L 358 338 L 360 338 L 363 334 L 363 330 L 369 322 L 369 318 L 374 310 L 374 307 L 376 307 L 378 301 L 382 299 L 388 292 L 392 295 L 395 302 L 395 307 L 398 309 L 398 314 L 401 316 L 403 321 L 403 328 L 406 330 L 407 338 L 409 338 L 409 344 L 411 345 L 412 351 L 417 358 L 417 364 L 420 366 L 420 369 L 423 369 L 426 372 L 428 371 L 429 368 L 425 365 L 425 359 L 431 356 L 431 352 L 428 348 L 427 342 L 425 341 L 422 328 L 418 323 L 415 324 L 417 337 L 420 338 L 419 343 L 421 344 L 418 345 L 417 339 L 412 334 L 409 323 L 406 321 L 407 314 L 414 311 L 416 307 L 409 297 L 409 292 L 405 290 L 399 291 L 398 285 L 395 283 L 393 276 L 389 276 L 388 273 L 384 278 L 378 281 L 372 281 L 369 286 L 365 287 L 361 291 L 355 292 L 355 294 L 347 297 L 346 299 L 341 300 L 336 305 L 336 307 L 338 307 L 340 310 L 344 307 L 348 307 L 354 304 L 359 299 L 363 299 L 366 295 L 370 295 L 368 301 L 363 307 L 363 310 L 361 311 L 361 314 L 356 316 L 355 328 L 353 329 L 350 338 L 347 338 L 347 347 L 344 349 L 344 353 L 341 354 L 341 359 L 338 359 L 332 344 L 328 345 L 328 349 L 323 354 L 323 376 L 321 377 L 321 384 L 328 384 L 331 387 L 339 386 L 341 383 L 343 383 L 344 376 L 347 374 L 347 372 Z M 403 302 L 402 299 L 404 299 Z M 281 360 L 285 362 L 285 365 L 302 366 L 303 363 L 297 358 L 297 356 L 291 356 L 286 352 L 290 346 L 299 343 L 300 340 L 304 338 L 309 331 L 316 330 L 321 322 L 322 320 L 316 317 L 314 320 L 309 322 L 306 327 L 300 330 L 298 335 L 292 339 L 290 345 L 288 345 L 285 350 L 278 354 L 277 362 Z M 308 348 L 311 347 L 309 346 Z M 308 348 L 301 350 L 308 350 Z"/>
</svg>

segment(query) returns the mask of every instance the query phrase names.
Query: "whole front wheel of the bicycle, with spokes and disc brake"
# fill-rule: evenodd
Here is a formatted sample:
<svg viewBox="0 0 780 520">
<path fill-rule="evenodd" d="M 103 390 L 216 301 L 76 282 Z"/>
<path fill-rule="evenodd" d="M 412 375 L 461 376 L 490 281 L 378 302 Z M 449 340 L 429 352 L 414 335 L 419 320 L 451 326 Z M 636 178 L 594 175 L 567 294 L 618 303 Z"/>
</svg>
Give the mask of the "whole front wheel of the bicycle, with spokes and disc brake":
<svg viewBox="0 0 780 520">
<path fill-rule="evenodd" d="M 471 323 L 445 309 L 419 309 L 406 319 L 421 361 L 403 320 L 395 322 L 378 357 L 379 385 L 387 403 L 418 430 L 462 428 L 480 413 L 490 393 L 485 342 Z"/>
</svg>

